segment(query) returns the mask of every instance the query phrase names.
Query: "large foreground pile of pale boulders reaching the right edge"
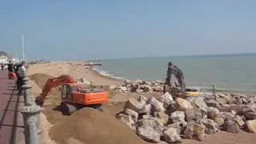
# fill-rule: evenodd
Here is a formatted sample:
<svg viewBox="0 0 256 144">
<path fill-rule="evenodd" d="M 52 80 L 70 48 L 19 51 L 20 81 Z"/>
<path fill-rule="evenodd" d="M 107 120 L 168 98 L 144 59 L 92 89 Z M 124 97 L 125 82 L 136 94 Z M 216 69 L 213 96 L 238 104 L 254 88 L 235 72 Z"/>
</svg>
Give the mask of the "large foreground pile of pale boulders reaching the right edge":
<svg viewBox="0 0 256 144">
<path fill-rule="evenodd" d="M 247 95 L 206 94 L 203 97 L 130 98 L 116 117 L 147 142 L 202 141 L 219 130 L 256 133 L 256 99 Z"/>
</svg>

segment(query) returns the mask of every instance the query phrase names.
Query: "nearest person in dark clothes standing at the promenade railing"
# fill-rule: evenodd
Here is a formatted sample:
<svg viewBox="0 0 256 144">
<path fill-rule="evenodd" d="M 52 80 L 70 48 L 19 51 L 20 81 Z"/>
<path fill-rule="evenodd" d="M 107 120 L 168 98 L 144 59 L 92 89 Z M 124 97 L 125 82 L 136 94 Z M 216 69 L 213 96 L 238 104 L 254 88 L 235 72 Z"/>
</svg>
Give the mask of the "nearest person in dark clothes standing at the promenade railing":
<svg viewBox="0 0 256 144">
<path fill-rule="evenodd" d="M 22 61 L 20 65 L 17 66 L 17 88 L 18 88 L 18 95 L 22 94 L 22 79 L 24 78 L 26 67 L 26 62 Z"/>
</svg>

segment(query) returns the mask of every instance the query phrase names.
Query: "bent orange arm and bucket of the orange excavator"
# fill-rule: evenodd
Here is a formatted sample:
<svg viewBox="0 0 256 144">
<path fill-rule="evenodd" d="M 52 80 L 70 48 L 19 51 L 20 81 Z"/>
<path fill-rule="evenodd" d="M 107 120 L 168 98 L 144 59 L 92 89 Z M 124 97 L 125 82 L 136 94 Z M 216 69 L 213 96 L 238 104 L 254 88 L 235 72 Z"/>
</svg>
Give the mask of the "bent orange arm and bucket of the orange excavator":
<svg viewBox="0 0 256 144">
<path fill-rule="evenodd" d="M 42 106 L 43 102 L 53 87 L 60 86 L 65 83 L 76 83 L 70 75 L 61 75 L 57 78 L 49 78 L 42 89 L 42 93 L 36 98 L 37 105 Z"/>
</svg>

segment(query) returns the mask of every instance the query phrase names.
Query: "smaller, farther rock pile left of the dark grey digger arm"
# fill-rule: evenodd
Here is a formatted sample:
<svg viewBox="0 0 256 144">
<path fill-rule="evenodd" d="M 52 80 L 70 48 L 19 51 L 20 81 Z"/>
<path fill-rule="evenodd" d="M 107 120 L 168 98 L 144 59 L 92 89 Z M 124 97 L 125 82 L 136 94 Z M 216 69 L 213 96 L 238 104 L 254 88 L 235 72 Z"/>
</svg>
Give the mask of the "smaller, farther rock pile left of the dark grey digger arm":
<svg viewBox="0 0 256 144">
<path fill-rule="evenodd" d="M 116 90 L 118 92 L 136 92 L 136 93 L 151 93 L 153 91 L 162 92 L 163 85 L 162 82 L 148 82 L 142 81 L 141 79 L 132 82 L 130 80 L 126 80 L 121 86 L 110 86 L 110 90 Z"/>
</svg>

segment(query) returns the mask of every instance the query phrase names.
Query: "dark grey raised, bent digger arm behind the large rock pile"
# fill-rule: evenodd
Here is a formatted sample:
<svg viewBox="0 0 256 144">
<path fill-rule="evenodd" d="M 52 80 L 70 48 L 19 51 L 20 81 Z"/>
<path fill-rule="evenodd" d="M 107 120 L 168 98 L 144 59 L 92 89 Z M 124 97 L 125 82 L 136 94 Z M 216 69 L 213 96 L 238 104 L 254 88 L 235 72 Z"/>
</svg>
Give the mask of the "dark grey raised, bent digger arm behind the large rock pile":
<svg viewBox="0 0 256 144">
<path fill-rule="evenodd" d="M 168 63 L 168 70 L 167 70 L 167 78 L 166 78 L 166 84 L 168 86 L 171 85 L 171 74 L 174 74 L 174 77 L 177 78 L 179 86 L 181 86 L 181 90 L 183 91 L 185 89 L 185 79 L 182 73 L 182 70 L 178 68 L 178 66 L 172 64 L 172 62 Z"/>
</svg>

